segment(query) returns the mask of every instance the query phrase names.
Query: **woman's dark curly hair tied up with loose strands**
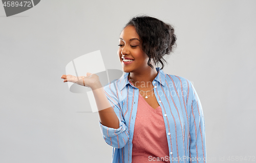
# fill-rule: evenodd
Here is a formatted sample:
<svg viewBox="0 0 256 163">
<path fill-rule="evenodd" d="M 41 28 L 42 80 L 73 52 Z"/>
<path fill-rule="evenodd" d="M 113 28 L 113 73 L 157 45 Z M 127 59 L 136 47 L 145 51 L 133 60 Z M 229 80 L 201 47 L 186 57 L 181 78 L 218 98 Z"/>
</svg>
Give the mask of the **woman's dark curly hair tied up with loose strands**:
<svg viewBox="0 0 256 163">
<path fill-rule="evenodd" d="M 172 25 L 165 23 L 157 18 L 150 16 L 133 17 L 126 25 L 133 25 L 141 40 L 141 49 L 148 56 L 147 65 L 154 68 L 150 64 L 151 59 L 154 63 L 161 64 L 161 69 L 164 67 L 164 62 L 167 63 L 163 56 L 173 52 L 176 46 L 176 36 Z"/>
</svg>

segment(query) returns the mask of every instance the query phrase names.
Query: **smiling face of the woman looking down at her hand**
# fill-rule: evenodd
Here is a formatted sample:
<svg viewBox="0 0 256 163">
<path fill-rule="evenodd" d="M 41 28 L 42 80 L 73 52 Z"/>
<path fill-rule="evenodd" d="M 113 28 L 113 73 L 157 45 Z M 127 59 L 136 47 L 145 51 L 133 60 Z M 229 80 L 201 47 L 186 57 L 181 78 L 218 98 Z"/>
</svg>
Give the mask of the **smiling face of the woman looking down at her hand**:
<svg viewBox="0 0 256 163">
<path fill-rule="evenodd" d="M 124 72 L 141 72 L 148 68 L 148 56 L 141 50 L 139 35 L 127 25 L 119 38 L 118 56 Z"/>
</svg>

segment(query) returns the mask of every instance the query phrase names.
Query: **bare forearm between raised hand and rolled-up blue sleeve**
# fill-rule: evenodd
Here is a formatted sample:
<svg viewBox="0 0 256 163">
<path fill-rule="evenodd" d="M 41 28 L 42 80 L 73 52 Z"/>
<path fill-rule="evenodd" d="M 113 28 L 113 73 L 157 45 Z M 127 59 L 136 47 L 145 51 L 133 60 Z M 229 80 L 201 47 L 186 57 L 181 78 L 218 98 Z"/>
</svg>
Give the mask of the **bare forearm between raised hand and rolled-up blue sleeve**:
<svg viewBox="0 0 256 163">
<path fill-rule="evenodd" d="M 110 105 L 109 100 L 106 98 L 101 84 L 99 83 L 95 85 L 92 90 L 98 108 L 100 123 L 107 127 L 119 128 L 117 115 Z"/>
</svg>

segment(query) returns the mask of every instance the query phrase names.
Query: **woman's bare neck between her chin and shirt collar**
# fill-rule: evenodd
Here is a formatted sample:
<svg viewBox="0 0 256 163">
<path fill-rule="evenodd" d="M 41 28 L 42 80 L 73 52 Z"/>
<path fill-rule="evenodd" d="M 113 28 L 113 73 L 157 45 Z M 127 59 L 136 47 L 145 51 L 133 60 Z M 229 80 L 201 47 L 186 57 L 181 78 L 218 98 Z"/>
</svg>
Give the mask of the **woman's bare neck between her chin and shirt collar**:
<svg viewBox="0 0 256 163">
<path fill-rule="evenodd" d="M 130 78 L 136 86 L 150 87 L 153 80 L 156 78 L 158 72 L 156 68 L 148 68 L 147 70 L 140 72 L 131 72 Z"/>
</svg>

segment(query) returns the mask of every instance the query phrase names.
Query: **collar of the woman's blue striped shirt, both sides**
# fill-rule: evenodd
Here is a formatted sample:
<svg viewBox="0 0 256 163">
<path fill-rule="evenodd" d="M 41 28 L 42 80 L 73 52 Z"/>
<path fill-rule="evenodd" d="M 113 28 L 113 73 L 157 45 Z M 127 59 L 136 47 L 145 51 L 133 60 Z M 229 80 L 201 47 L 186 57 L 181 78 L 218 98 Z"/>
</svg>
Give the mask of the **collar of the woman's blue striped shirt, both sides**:
<svg viewBox="0 0 256 163">
<path fill-rule="evenodd" d="M 156 70 L 158 72 L 156 78 L 154 80 L 156 80 L 157 82 L 159 82 L 161 85 L 165 86 L 165 78 L 166 78 L 166 74 L 163 72 L 163 70 L 161 70 L 159 67 L 156 67 Z M 130 72 L 126 72 L 119 80 L 117 80 L 118 84 L 118 88 L 121 91 L 127 84 L 130 84 L 129 80 L 128 80 L 128 75 L 130 74 Z M 131 85 L 132 86 L 132 85 Z"/>
</svg>

